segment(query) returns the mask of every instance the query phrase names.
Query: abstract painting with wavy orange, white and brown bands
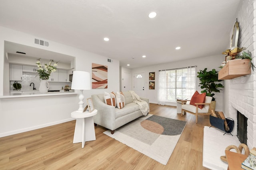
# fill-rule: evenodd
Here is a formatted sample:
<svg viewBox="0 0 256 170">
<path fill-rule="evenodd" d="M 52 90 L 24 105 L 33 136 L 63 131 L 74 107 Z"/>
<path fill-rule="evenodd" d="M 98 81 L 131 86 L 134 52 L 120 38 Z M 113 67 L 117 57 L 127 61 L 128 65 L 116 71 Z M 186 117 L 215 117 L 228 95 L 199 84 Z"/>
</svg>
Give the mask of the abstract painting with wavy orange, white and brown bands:
<svg viewBox="0 0 256 170">
<path fill-rule="evenodd" d="M 108 88 L 108 66 L 92 63 L 92 88 Z"/>
</svg>

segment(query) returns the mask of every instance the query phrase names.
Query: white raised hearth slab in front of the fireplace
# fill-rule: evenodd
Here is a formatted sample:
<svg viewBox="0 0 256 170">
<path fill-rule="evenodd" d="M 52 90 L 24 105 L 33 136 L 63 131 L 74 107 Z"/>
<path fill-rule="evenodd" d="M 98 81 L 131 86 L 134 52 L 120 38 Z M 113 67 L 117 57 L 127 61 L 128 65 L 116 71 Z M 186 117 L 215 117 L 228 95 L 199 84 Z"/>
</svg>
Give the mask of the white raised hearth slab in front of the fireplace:
<svg viewBox="0 0 256 170">
<path fill-rule="evenodd" d="M 215 127 L 204 127 L 203 166 L 211 170 L 227 170 L 228 164 L 220 159 L 225 156 L 225 149 L 229 145 L 239 146 L 241 143 L 236 137 Z M 233 151 L 233 150 L 232 150 Z M 235 152 L 235 151 L 234 151 Z"/>
</svg>

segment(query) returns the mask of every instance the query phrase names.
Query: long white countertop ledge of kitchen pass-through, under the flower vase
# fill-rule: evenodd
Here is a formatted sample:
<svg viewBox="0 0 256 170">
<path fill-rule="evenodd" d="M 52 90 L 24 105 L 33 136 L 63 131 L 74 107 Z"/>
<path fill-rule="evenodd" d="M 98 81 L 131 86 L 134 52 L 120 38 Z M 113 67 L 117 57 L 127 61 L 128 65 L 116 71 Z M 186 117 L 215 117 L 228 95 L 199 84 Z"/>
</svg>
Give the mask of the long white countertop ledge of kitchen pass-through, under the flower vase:
<svg viewBox="0 0 256 170">
<path fill-rule="evenodd" d="M 11 93 L 11 92 L 19 92 L 19 93 Z M 10 91 L 9 96 L 0 96 L 0 98 L 23 98 L 23 97 L 34 97 L 34 96 L 57 96 L 57 95 L 71 95 L 71 94 L 77 94 L 74 91 L 69 91 L 69 92 L 48 92 L 48 93 L 40 93 L 38 90 L 14 90 Z"/>
</svg>

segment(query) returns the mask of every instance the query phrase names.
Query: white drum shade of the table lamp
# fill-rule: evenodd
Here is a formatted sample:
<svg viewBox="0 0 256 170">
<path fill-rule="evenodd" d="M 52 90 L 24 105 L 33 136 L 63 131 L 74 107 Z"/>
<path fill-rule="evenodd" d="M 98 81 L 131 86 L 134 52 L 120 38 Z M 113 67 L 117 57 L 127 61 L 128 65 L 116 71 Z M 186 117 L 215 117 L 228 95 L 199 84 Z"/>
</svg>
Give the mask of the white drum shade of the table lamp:
<svg viewBox="0 0 256 170">
<path fill-rule="evenodd" d="M 90 73 L 85 71 L 74 71 L 71 89 L 90 90 L 91 89 Z"/>
</svg>

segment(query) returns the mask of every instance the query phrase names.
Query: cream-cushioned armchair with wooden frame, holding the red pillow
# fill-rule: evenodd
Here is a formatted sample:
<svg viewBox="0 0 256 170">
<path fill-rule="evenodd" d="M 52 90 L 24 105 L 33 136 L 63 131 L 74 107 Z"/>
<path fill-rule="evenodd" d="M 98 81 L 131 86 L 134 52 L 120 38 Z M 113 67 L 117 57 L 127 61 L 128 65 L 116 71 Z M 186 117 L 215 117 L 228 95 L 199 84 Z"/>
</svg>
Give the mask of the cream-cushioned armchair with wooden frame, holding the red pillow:
<svg viewBox="0 0 256 170">
<path fill-rule="evenodd" d="M 208 113 L 209 109 L 211 110 L 211 101 L 212 97 L 206 96 L 205 97 L 205 103 L 195 103 L 196 106 L 191 104 L 185 104 L 190 100 L 182 100 L 182 106 L 181 106 L 181 116 L 184 112 L 191 113 L 193 115 L 196 115 L 196 123 L 198 119 L 198 115 L 210 115 L 211 113 Z M 204 105 L 202 109 L 198 107 L 198 105 Z"/>
</svg>

